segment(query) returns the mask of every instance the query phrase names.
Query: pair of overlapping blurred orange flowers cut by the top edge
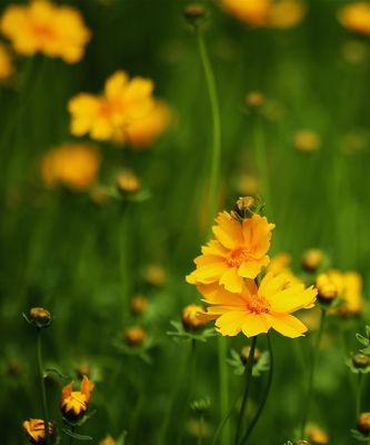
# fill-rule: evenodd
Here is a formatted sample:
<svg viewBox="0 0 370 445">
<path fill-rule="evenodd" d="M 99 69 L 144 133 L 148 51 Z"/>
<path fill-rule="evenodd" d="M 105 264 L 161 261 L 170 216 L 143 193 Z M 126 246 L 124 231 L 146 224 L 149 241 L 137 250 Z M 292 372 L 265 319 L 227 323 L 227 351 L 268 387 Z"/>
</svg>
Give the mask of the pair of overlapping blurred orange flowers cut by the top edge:
<svg viewBox="0 0 370 445">
<path fill-rule="evenodd" d="M 221 0 L 223 8 L 252 27 L 292 28 L 306 13 L 299 0 Z"/>
</svg>

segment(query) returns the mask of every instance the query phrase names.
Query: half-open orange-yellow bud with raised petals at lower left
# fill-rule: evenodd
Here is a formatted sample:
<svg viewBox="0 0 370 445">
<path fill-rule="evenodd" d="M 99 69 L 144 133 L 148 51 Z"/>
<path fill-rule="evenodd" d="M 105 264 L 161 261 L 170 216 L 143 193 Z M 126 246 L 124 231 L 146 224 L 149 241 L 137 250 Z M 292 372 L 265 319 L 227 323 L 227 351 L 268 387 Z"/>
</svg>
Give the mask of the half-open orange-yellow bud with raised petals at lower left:
<svg viewBox="0 0 370 445">
<path fill-rule="evenodd" d="M 66 418 L 77 421 L 88 411 L 93 387 L 87 376 L 82 378 L 81 390 L 73 390 L 73 383 L 63 387 L 60 409 Z"/>
</svg>

